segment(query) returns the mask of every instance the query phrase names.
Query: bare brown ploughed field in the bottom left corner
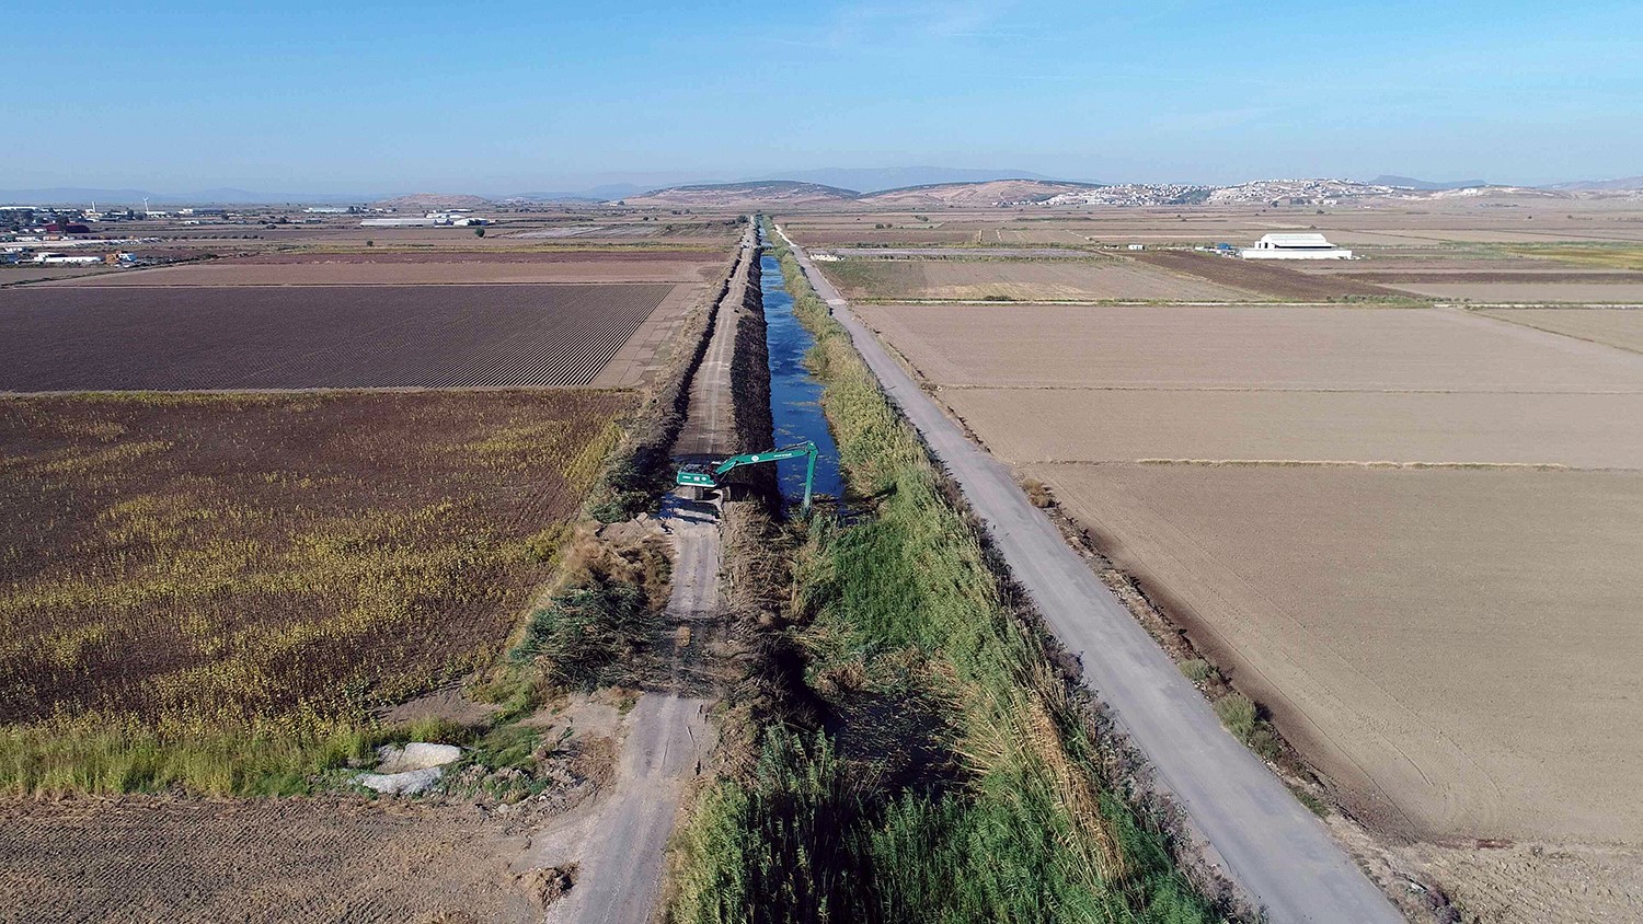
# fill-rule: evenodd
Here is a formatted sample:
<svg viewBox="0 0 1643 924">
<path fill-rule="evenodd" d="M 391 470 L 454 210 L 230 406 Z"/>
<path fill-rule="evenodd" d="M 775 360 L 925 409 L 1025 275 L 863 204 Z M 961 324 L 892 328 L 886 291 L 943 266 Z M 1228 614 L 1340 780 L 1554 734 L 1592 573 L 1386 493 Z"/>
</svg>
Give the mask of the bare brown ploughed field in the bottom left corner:
<svg viewBox="0 0 1643 924">
<path fill-rule="evenodd" d="M 541 921 L 473 806 L 127 798 L 0 804 L 0 921 Z"/>
</svg>

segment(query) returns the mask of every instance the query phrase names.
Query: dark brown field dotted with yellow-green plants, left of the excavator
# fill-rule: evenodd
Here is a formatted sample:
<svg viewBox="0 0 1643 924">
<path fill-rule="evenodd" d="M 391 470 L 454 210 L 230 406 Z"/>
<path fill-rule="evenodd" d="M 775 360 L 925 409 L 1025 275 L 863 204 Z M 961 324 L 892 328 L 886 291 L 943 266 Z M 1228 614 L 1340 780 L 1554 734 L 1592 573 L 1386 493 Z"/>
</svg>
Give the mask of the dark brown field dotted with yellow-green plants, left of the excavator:
<svg viewBox="0 0 1643 924">
<path fill-rule="evenodd" d="M 0 722 L 357 719 L 486 663 L 631 402 L 0 400 Z"/>
</svg>

